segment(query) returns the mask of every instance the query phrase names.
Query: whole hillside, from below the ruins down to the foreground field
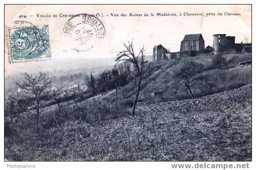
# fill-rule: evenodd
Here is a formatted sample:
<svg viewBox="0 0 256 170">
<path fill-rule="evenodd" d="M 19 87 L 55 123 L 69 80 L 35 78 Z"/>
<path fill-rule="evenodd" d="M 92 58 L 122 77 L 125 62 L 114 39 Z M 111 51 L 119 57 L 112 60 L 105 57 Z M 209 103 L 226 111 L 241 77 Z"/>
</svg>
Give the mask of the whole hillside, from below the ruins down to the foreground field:
<svg viewBox="0 0 256 170">
<path fill-rule="evenodd" d="M 142 81 L 135 118 L 131 116 L 134 72 L 128 74 L 127 84 L 119 84 L 117 93 L 110 87 L 90 99 L 81 93 L 60 106 L 45 107 L 38 128 L 30 117 L 32 110 L 22 113 L 13 131 L 5 133 L 4 157 L 11 161 L 251 161 L 252 67 L 237 65 L 252 56 L 225 55 L 227 64 L 222 68 L 212 65 L 212 57 L 200 54 L 161 62 L 161 68 Z M 195 99 L 185 87 L 176 88 L 172 76 L 191 59 L 203 64 L 198 75 L 207 78 L 191 88 Z M 155 90 L 162 93 L 153 97 Z"/>
</svg>

